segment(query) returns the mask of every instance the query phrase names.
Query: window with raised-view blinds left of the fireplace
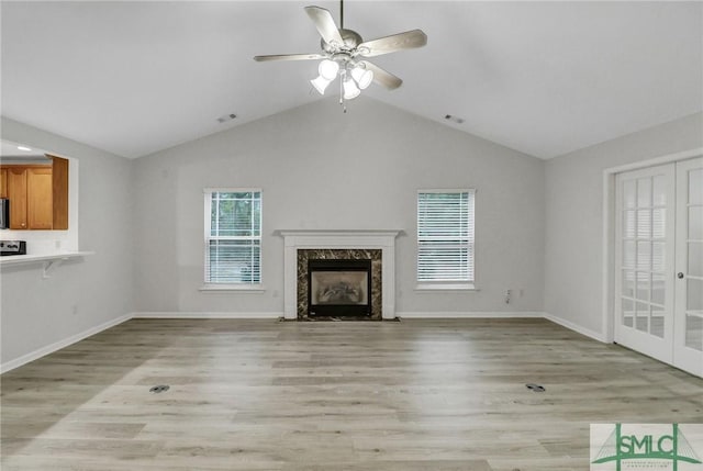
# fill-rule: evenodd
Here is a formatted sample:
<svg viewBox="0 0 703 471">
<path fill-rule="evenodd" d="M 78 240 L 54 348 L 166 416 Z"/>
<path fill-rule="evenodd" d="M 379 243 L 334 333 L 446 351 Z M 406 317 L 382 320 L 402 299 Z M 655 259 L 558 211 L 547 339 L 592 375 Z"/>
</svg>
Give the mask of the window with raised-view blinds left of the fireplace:
<svg viewBox="0 0 703 471">
<path fill-rule="evenodd" d="M 205 284 L 261 282 L 261 191 L 205 190 Z"/>
</svg>

